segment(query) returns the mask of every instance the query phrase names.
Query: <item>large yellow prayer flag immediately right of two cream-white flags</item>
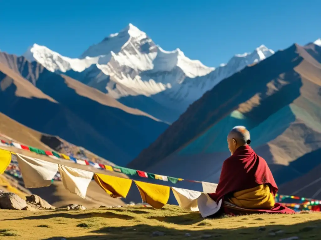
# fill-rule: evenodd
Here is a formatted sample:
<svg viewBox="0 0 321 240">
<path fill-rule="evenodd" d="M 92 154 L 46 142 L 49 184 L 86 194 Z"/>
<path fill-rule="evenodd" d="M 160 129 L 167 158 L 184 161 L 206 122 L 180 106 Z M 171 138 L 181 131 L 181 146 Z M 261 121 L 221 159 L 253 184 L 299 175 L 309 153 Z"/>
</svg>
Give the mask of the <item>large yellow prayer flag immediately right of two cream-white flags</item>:
<svg viewBox="0 0 321 240">
<path fill-rule="evenodd" d="M 132 186 L 131 179 L 118 178 L 100 173 L 94 174 L 94 180 L 113 198 L 126 197 Z"/>
</svg>

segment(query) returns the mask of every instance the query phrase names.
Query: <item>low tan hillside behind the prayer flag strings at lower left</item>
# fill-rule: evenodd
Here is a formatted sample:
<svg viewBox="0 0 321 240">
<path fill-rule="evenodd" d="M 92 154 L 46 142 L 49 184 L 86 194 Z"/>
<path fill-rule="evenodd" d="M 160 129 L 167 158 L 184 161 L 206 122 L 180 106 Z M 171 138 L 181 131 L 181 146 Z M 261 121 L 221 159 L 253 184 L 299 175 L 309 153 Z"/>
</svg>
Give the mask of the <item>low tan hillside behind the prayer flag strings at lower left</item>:
<svg viewBox="0 0 321 240">
<path fill-rule="evenodd" d="M 41 132 L 30 129 L 12 118 L 0 113 L 0 139 L 5 141 L 14 141 L 20 144 L 24 144 L 27 146 L 33 146 L 36 148 L 40 148 L 43 150 L 52 151 L 57 150 L 53 148 L 55 146 L 56 141 L 58 140 L 54 136 L 48 136 Z M 46 139 L 46 141 L 44 141 Z M 49 140 L 49 141 L 48 141 Z M 58 140 L 59 142 L 63 142 L 63 149 L 59 149 L 61 153 L 69 153 L 73 152 L 75 146 L 66 142 L 65 140 Z M 14 148 L 12 149 L 14 151 Z M 88 158 L 97 157 L 93 155 L 91 152 L 88 152 L 84 149 L 84 152 Z M 30 152 L 24 152 L 24 154 L 29 155 Z M 15 159 L 15 156 L 13 155 Z M 105 159 L 101 159 L 102 163 L 113 165 Z M 110 172 L 112 174 L 112 172 Z M 126 177 L 126 176 L 122 176 Z M 110 196 L 106 196 L 104 190 L 102 190 L 96 183 L 91 182 L 88 190 L 86 199 L 82 199 L 80 196 L 70 193 L 61 181 L 54 181 L 52 185 L 44 188 L 29 188 L 26 189 L 24 187 L 24 183 L 22 179 L 15 178 L 10 176 L 9 174 L 2 174 L 0 176 L 0 190 L 4 192 L 15 192 L 20 193 L 19 196 L 24 197 L 26 195 L 37 194 L 50 204 L 60 207 L 67 204 L 83 204 L 86 207 L 99 207 L 100 205 L 124 205 L 122 200 L 114 199 Z"/>
</svg>

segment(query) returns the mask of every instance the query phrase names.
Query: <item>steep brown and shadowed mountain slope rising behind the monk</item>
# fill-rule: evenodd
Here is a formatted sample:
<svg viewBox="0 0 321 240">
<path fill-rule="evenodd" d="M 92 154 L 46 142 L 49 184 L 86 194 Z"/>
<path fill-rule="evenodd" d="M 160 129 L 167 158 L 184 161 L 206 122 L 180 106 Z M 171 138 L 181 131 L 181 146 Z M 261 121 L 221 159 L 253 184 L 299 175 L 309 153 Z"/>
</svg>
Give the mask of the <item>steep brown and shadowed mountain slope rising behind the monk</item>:
<svg viewBox="0 0 321 240">
<path fill-rule="evenodd" d="M 293 44 L 217 84 L 128 167 L 218 182 L 236 125 L 251 133 L 280 193 L 321 198 L 321 47 Z M 181 186 L 184 187 L 184 186 Z"/>
</svg>

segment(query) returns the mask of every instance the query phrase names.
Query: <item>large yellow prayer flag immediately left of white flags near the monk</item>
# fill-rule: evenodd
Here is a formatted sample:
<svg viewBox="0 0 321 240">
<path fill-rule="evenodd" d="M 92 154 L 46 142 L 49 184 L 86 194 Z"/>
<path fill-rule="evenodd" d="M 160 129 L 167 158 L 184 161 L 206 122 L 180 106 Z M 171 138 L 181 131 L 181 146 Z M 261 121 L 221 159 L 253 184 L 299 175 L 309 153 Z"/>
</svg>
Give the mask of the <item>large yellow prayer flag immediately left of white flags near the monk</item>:
<svg viewBox="0 0 321 240">
<path fill-rule="evenodd" d="M 141 194 L 143 202 L 150 204 L 154 208 L 162 208 L 167 204 L 170 191 L 168 186 L 141 181 L 134 182 Z"/>
</svg>

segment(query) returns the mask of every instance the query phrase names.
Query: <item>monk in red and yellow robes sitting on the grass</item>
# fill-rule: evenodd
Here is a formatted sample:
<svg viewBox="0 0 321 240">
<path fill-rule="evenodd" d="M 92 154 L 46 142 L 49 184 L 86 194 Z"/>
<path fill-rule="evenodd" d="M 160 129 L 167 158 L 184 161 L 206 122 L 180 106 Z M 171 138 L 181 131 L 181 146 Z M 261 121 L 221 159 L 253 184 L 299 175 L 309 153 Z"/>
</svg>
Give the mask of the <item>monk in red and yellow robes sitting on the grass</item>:
<svg viewBox="0 0 321 240">
<path fill-rule="evenodd" d="M 216 203 L 222 200 L 220 212 L 230 215 L 294 213 L 275 203 L 278 187 L 265 160 L 249 146 L 250 133 L 246 127 L 234 127 L 227 142 L 231 156 L 223 163 L 216 192 L 209 194 Z"/>
</svg>

